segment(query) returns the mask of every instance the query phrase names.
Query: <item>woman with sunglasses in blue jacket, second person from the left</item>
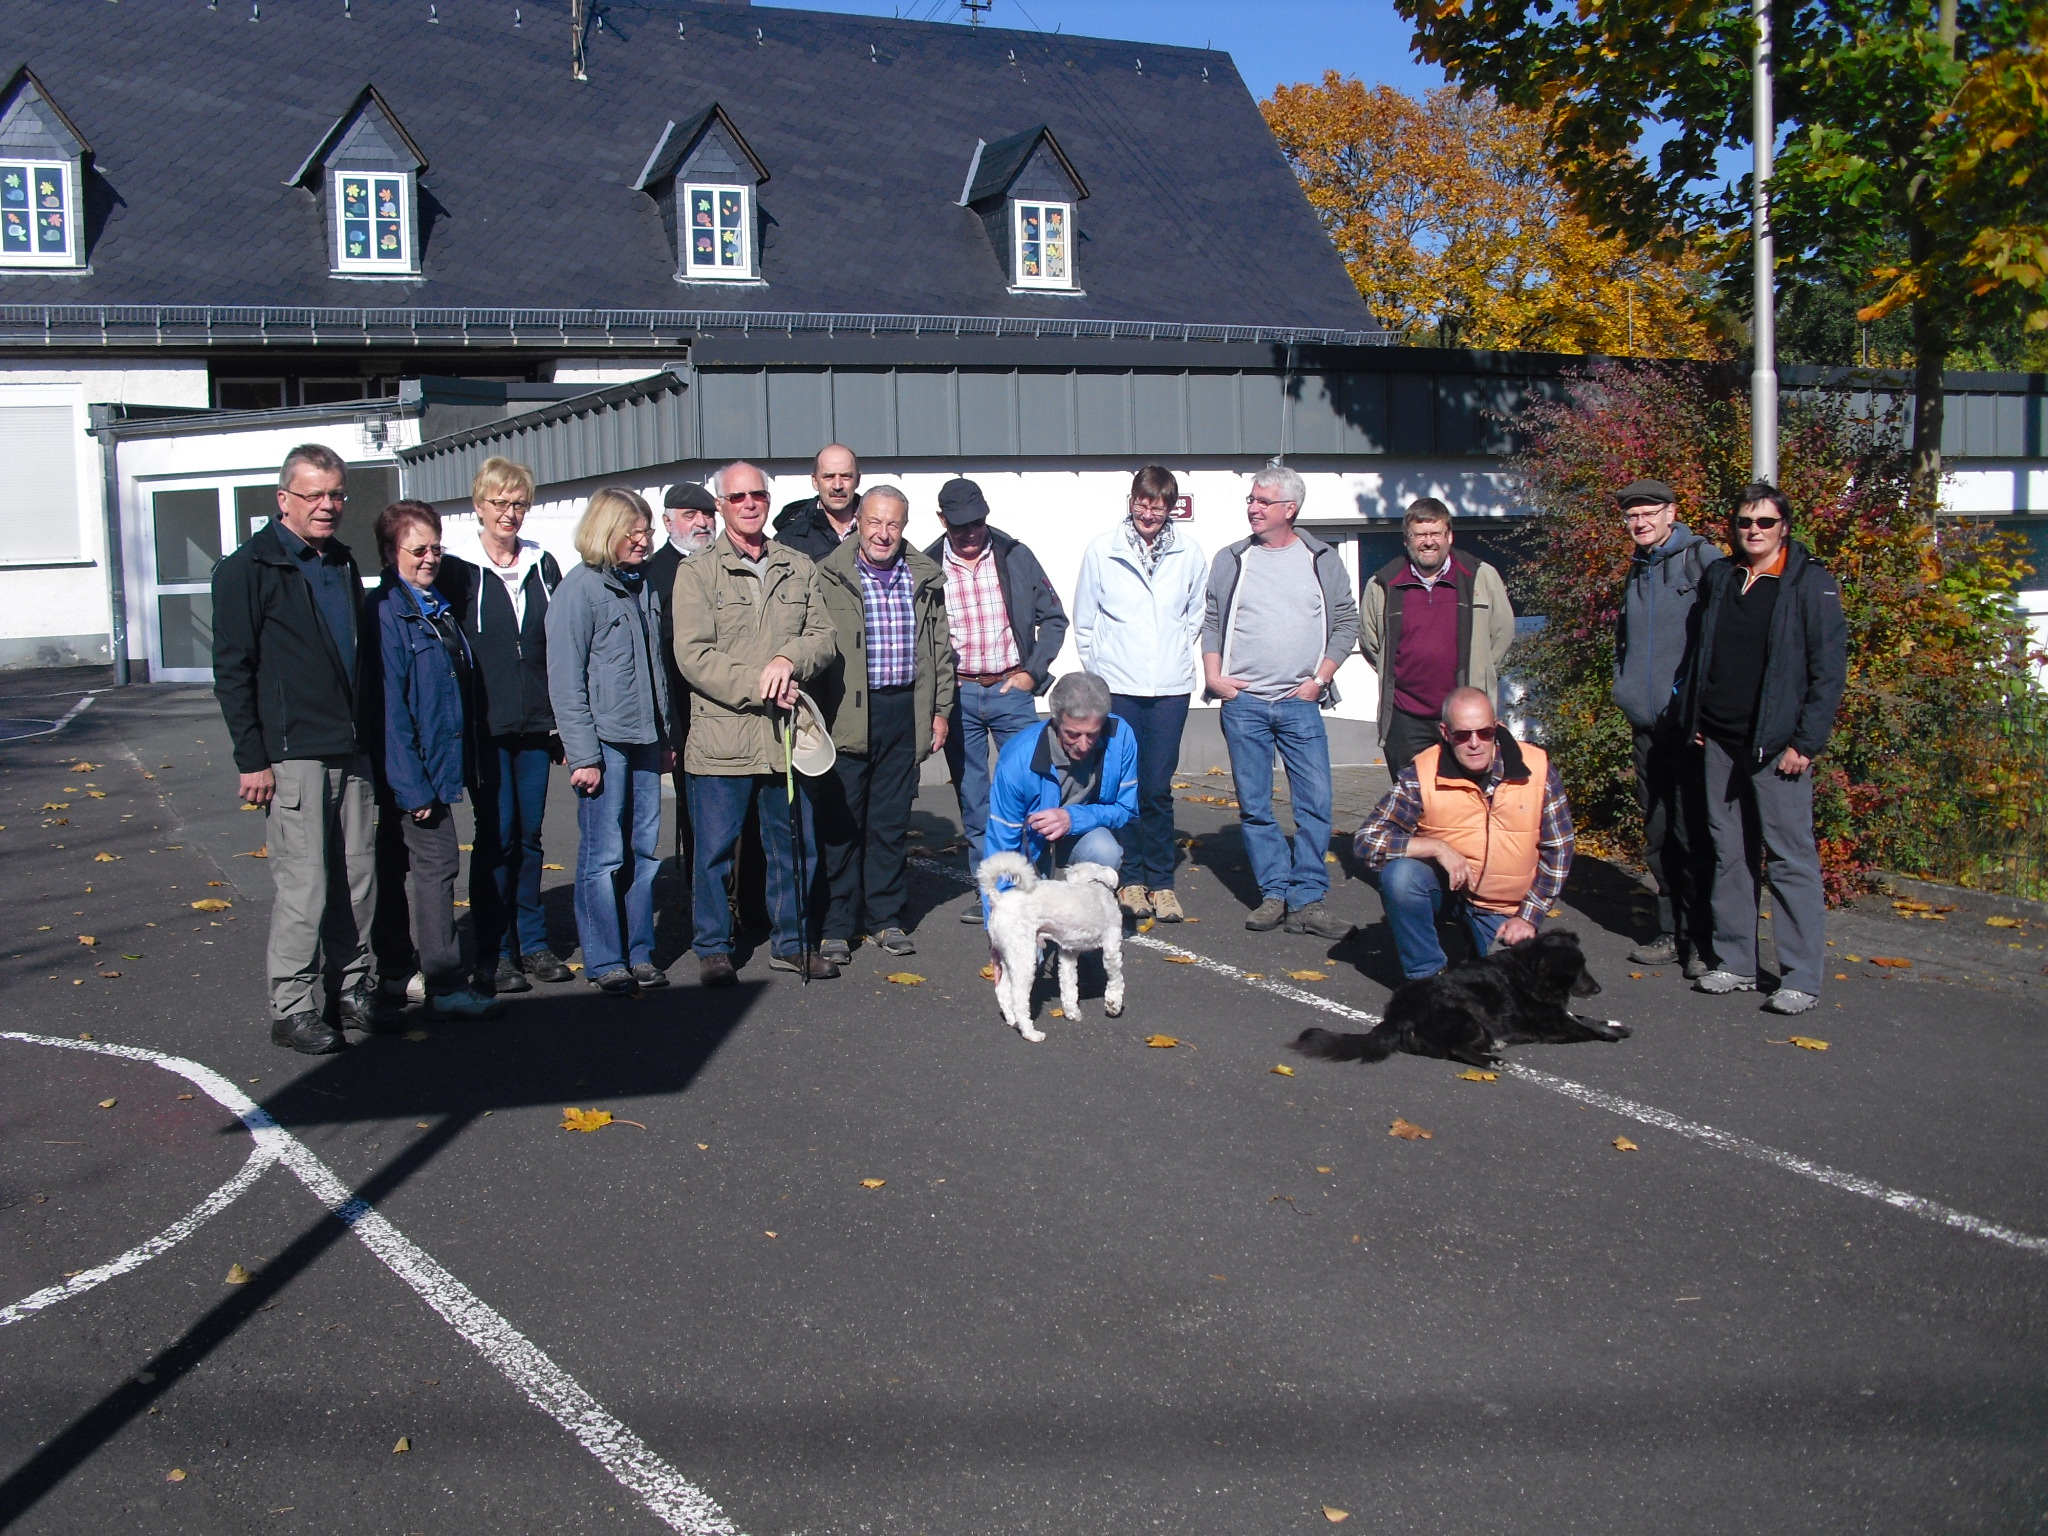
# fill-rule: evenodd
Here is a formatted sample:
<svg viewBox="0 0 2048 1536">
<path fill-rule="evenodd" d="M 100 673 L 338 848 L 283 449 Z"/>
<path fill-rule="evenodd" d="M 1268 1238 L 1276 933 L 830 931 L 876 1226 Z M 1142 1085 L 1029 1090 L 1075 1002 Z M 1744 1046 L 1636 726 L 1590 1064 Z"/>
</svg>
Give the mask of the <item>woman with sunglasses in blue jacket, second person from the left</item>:
<svg viewBox="0 0 2048 1536">
<path fill-rule="evenodd" d="M 461 846 L 451 807 L 475 784 L 477 735 L 471 719 L 475 664 L 455 608 L 434 590 L 440 571 L 440 514 L 426 502 L 393 502 L 377 516 L 383 584 L 362 604 L 362 633 L 375 635 L 381 727 L 375 754 L 385 864 L 379 961 L 403 942 L 395 856 L 412 885 L 412 944 L 426 981 L 426 1012 L 436 1018 L 498 1018 L 504 1004 L 477 993 L 463 973 L 455 936 L 455 874 Z M 397 829 L 393 836 L 391 827 Z M 383 965 L 385 985 L 399 965 Z"/>
</svg>

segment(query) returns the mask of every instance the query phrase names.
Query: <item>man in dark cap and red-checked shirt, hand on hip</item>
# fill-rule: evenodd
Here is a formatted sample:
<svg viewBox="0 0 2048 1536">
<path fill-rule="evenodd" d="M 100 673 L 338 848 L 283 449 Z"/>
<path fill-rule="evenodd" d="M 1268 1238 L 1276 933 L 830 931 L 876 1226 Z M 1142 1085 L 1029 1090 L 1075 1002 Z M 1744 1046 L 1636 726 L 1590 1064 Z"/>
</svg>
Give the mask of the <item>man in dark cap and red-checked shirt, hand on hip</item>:
<svg viewBox="0 0 2048 1536">
<path fill-rule="evenodd" d="M 946 535 L 924 553 L 946 573 L 946 625 L 958 672 L 946 768 L 973 868 L 989 829 L 989 752 L 1001 752 L 1010 737 L 1038 723 L 1032 698 L 1053 682 L 1067 610 L 1038 559 L 989 526 L 989 504 L 975 481 L 940 485 L 938 516 Z M 979 895 L 963 907 L 961 922 L 981 922 Z"/>
</svg>

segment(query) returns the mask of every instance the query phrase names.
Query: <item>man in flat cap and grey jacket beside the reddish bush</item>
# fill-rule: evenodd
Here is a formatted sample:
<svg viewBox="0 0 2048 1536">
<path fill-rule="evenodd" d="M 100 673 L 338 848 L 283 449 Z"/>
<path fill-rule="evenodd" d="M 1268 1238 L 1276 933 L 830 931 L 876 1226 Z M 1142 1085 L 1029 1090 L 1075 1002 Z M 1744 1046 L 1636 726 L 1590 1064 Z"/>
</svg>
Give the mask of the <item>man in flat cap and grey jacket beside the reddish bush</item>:
<svg viewBox="0 0 2048 1536">
<path fill-rule="evenodd" d="M 1677 496 L 1661 479 L 1624 485 L 1614 504 L 1634 543 L 1614 621 L 1614 702 L 1634 731 L 1642 856 L 1657 879 L 1657 936 L 1628 958 L 1683 965 L 1698 977 L 1712 948 L 1714 852 L 1700 750 L 1679 721 L 1677 690 L 1698 635 L 1702 578 L 1720 547 L 1677 520 Z"/>
</svg>

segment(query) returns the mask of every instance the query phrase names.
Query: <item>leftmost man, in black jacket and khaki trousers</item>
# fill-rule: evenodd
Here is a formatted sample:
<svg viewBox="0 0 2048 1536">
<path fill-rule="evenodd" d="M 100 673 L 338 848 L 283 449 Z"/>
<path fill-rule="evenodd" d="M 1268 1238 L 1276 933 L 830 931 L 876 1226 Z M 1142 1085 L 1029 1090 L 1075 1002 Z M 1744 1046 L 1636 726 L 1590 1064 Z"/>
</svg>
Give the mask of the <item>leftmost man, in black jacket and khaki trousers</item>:
<svg viewBox="0 0 2048 1536">
<path fill-rule="evenodd" d="M 334 449 L 293 449 L 276 520 L 213 567 L 213 694 L 240 795 L 270 823 L 270 1040 L 305 1055 L 381 1022 L 367 942 L 377 805 L 356 723 L 362 571 L 334 537 L 346 475 Z"/>
</svg>

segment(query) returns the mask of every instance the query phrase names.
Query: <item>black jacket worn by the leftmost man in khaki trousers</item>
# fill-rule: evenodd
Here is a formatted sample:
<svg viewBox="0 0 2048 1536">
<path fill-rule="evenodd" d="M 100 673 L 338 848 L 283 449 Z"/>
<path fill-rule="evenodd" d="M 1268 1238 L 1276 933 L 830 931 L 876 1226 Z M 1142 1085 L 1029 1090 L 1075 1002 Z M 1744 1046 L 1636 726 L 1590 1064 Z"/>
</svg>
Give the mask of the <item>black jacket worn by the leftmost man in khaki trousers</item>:
<svg viewBox="0 0 2048 1536">
<path fill-rule="evenodd" d="M 348 547 L 330 541 L 328 549 L 348 561 L 350 592 L 360 592 L 362 571 Z M 358 647 L 365 633 L 358 625 Z M 260 526 L 213 567 L 213 696 L 238 772 L 362 752 L 354 676 L 354 657 L 344 662 L 334 645 L 276 524 Z"/>
</svg>

